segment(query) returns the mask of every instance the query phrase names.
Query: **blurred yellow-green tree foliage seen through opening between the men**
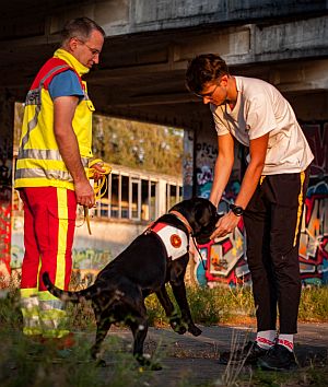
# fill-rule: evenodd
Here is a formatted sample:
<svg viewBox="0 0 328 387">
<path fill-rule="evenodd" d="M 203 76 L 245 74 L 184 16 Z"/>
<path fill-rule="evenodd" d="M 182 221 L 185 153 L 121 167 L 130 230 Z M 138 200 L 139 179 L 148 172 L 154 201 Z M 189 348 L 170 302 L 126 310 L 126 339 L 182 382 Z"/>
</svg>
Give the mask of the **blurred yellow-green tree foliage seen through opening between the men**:
<svg viewBox="0 0 328 387">
<path fill-rule="evenodd" d="M 93 153 L 107 163 L 180 176 L 183 130 L 94 116 Z"/>
</svg>

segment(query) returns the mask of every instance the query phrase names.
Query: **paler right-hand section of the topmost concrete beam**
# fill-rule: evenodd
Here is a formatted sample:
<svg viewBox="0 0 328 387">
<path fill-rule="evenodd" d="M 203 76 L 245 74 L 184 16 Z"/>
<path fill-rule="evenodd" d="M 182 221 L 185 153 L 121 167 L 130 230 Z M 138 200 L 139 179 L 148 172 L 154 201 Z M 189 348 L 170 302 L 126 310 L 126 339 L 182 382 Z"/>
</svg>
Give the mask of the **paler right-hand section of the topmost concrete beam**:
<svg viewBox="0 0 328 387">
<path fill-rule="evenodd" d="M 129 33 L 191 27 L 204 24 L 266 23 L 285 17 L 327 13 L 326 0 L 137 0 L 130 2 Z"/>
</svg>

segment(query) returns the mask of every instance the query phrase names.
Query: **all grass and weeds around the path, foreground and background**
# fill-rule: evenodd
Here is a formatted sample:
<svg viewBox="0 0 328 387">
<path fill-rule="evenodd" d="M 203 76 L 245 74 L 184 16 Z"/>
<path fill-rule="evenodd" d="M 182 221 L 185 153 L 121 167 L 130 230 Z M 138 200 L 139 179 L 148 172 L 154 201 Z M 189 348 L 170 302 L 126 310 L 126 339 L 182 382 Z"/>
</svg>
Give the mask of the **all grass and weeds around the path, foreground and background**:
<svg viewBox="0 0 328 387">
<path fill-rule="evenodd" d="M 167 289 L 171 298 L 172 291 Z M 218 324 L 236 324 L 243 321 L 244 327 L 254 325 L 255 308 L 249 288 L 188 288 L 188 300 L 196 324 L 213 326 Z M 150 325 L 168 327 L 167 318 L 156 297 L 147 298 Z M 16 286 L 12 285 L 5 297 L 0 298 L 0 385 L 3 387 L 139 387 L 155 386 L 154 375 L 147 368 L 140 368 L 121 339 L 108 336 L 104 342 L 104 352 L 109 366 L 98 368 L 89 361 L 91 341 L 94 339 L 95 321 L 90 302 L 68 305 L 69 328 L 78 332 L 78 347 L 68 359 L 56 362 L 55 349 L 49 345 L 31 343 L 22 331 L 20 298 Z M 300 305 L 300 321 L 327 321 L 328 286 L 305 288 Z M 93 333 L 93 335 L 90 335 Z M 236 338 L 235 338 L 236 339 Z M 233 341 L 233 339 L 232 339 Z M 236 340 L 237 341 L 243 341 Z M 129 344 L 130 345 L 130 344 Z M 161 343 L 150 343 L 147 348 L 156 361 L 165 356 L 195 357 L 190 351 L 179 347 L 163 348 Z M 241 343 L 239 343 L 241 345 Z M 150 351 L 149 351 L 150 350 Z M 174 352 L 173 351 L 173 352 Z M 214 352 L 203 357 L 216 359 Z M 324 359 L 324 363 L 327 357 Z M 297 373 L 267 373 L 256 370 L 234 368 L 229 366 L 218 379 L 203 384 L 213 386 L 318 386 L 328 385 L 327 365 L 319 360 L 303 367 Z M 181 372 L 181 370 L 180 370 Z M 199 386 L 186 376 L 177 382 L 177 386 Z"/>
</svg>

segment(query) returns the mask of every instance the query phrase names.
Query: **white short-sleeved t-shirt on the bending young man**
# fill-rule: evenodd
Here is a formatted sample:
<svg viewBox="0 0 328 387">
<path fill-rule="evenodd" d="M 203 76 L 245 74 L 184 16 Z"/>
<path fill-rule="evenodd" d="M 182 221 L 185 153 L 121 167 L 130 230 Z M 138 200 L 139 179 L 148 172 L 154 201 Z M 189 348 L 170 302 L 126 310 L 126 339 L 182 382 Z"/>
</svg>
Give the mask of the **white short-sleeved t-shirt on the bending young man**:
<svg viewBox="0 0 328 387">
<path fill-rule="evenodd" d="M 218 136 L 231 132 L 242 144 L 269 132 L 263 175 L 306 169 L 314 155 L 289 102 L 270 83 L 234 77 L 238 91 L 233 110 L 211 104 Z"/>
</svg>

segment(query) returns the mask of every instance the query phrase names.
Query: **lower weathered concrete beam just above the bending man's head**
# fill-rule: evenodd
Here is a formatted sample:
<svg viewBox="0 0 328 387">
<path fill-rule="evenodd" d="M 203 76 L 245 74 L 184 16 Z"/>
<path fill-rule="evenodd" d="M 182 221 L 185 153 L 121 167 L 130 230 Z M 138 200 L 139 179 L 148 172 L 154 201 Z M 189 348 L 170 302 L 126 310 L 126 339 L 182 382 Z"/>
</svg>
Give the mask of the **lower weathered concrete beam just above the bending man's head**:
<svg viewBox="0 0 328 387">
<path fill-rule="evenodd" d="M 247 64 L 328 55 L 328 17 L 279 23 L 270 26 L 248 24 L 175 39 L 174 60 L 216 52 L 230 64 Z"/>
</svg>

